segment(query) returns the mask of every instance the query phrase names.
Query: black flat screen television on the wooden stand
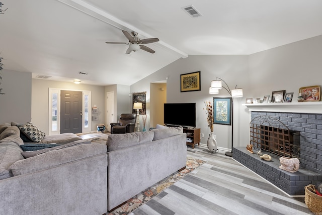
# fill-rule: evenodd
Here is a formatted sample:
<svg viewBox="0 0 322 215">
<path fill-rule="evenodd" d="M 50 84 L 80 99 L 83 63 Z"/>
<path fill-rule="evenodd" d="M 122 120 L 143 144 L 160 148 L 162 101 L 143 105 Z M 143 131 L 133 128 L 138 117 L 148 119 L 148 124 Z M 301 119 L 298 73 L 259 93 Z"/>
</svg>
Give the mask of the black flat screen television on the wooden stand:
<svg viewBox="0 0 322 215">
<path fill-rule="evenodd" d="M 165 103 L 166 125 L 196 127 L 196 103 Z"/>
</svg>

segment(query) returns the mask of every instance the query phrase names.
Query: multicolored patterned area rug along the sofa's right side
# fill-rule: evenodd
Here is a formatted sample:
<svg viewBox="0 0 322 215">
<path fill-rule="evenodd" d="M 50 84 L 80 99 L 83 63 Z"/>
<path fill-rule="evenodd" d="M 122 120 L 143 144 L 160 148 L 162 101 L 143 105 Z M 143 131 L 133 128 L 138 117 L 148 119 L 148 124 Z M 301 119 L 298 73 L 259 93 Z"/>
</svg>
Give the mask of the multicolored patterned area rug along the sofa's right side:
<svg viewBox="0 0 322 215">
<path fill-rule="evenodd" d="M 156 184 L 127 200 L 125 204 L 111 211 L 110 213 L 108 213 L 108 215 L 125 215 L 130 213 L 204 163 L 206 163 L 206 161 L 188 157 L 187 165 L 184 170 L 180 172 L 177 171 L 169 177 L 163 179 L 162 181 L 157 182 Z"/>
</svg>

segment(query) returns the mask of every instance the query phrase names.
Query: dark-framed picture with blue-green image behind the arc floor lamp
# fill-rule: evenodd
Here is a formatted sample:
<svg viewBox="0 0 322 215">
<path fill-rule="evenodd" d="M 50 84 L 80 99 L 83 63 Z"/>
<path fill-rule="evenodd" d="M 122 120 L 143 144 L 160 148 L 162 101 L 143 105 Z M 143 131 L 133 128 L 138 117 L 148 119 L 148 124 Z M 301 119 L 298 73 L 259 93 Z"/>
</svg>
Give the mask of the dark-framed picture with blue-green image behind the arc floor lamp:
<svg viewBox="0 0 322 215">
<path fill-rule="evenodd" d="M 231 97 L 213 98 L 213 123 L 231 125 Z"/>
</svg>

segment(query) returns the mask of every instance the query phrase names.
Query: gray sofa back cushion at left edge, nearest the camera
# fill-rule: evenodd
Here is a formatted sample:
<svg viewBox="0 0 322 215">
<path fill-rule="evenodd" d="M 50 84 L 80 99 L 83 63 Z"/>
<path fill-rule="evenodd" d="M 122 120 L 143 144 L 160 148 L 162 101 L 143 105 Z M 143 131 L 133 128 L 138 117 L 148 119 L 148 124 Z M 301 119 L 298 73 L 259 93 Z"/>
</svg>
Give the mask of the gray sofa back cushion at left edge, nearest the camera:
<svg viewBox="0 0 322 215">
<path fill-rule="evenodd" d="M 18 160 L 23 160 L 22 149 L 13 142 L 0 144 L 0 180 L 13 176 L 10 166 Z"/>
</svg>

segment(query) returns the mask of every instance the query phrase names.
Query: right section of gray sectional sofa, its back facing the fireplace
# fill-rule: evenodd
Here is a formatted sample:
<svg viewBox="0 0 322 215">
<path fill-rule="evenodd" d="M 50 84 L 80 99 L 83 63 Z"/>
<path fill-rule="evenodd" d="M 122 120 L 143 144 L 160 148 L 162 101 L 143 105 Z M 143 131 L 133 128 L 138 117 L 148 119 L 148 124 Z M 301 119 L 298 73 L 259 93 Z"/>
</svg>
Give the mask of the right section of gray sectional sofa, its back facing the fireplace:
<svg viewBox="0 0 322 215">
<path fill-rule="evenodd" d="M 186 167 L 186 133 L 182 127 L 112 134 L 107 148 L 109 211 Z"/>
</svg>

